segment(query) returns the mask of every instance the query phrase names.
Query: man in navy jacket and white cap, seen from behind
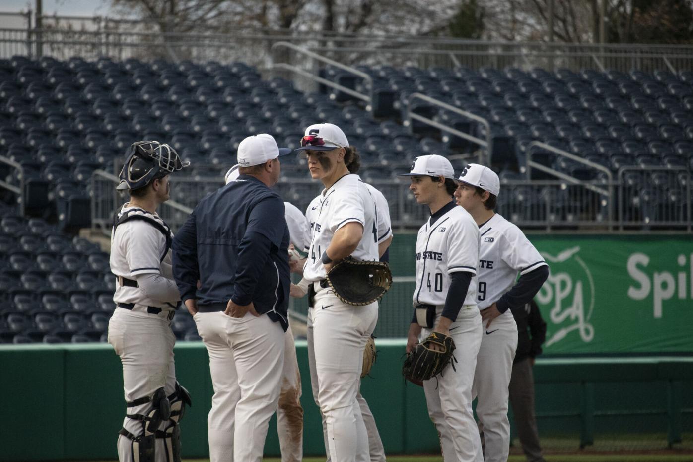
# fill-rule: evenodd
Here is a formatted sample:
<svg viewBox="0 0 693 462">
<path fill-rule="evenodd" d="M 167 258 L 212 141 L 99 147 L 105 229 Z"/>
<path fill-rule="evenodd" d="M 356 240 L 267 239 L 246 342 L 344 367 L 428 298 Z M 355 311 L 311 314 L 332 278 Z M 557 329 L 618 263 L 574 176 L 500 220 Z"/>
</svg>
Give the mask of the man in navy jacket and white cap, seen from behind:
<svg viewBox="0 0 693 462">
<path fill-rule="evenodd" d="M 267 134 L 243 139 L 238 179 L 202 198 L 173 241 L 173 275 L 209 353 L 211 462 L 261 462 L 279 402 L 289 232 L 270 188 L 290 152 Z"/>
</svg>

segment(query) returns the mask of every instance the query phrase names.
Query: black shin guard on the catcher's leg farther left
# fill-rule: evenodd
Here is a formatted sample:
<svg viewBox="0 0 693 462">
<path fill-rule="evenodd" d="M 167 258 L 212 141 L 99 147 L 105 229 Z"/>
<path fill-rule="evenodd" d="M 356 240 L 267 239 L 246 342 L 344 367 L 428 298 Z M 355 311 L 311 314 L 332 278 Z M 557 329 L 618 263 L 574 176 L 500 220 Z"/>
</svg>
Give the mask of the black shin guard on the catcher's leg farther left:
<svg viewBox="0 0 693 462">
<path fill-rule="evenodd" d="M 123 427 L 119 434 L 130 440 L 132 462 L 155 462 L 157 433 L 161 422 L 170 418 L 170 402 L 164 388 L 161 387 L 152 396 L 127 403 L 129 408 L 143 405 L 146 406 L 141 409 L 141 413 L 125 414 L 127 418 L 142 422 L 141 432 L 136 435 Z"/>
</svg>

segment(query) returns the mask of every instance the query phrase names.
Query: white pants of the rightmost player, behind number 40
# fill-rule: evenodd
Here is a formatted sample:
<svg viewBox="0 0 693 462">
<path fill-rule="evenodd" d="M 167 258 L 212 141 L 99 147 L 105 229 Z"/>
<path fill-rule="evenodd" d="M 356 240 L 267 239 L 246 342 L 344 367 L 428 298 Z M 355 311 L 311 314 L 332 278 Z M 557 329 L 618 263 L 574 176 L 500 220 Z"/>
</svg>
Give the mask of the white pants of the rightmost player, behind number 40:
<svg viewBox="0 0 693 462">
<path fill-rule="evenodd" d="M 518 326 L 510 311 L 495 318 L 491 326 L 480 327 L 481 347 L 477 354 L 472 398 L 477 397 L 477 417 L 484 427 L 476 447 L 477 462 L 506 462 L 510 450 L 508 386 L 518 346 Z"/>
</svg>

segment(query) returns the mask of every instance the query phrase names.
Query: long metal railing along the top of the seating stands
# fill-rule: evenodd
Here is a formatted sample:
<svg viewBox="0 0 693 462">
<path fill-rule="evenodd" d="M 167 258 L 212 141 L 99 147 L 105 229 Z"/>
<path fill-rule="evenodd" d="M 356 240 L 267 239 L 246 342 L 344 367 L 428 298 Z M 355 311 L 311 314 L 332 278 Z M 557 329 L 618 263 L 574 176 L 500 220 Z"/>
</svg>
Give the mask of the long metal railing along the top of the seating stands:
<svg viewBox="0 0 693 462">
<path fill-rule="evenodd" d="M 235 28 L 222 32 L 208 27 L 195 33 L 152 33 L 152 24 L 105 17 L 42 16 L 36 28 L 30 18 L 26 28 L 0 29 L 0 58 L 12 54 L 51 55 L 68 59 L 141 58 L 243 60 L 269 65 L 270 46 L 277 41 L 325 55 L 344 65 L 472 68 L 543 67 L 572 70 L 693 69 L 693 46 L 653 44 L 575 44 L 543 42 L 490 42 L 446 37 L 373 35 L 319 32 L 309 37 L 299 31 Z M 39 53 L 41 51 L 42 53 Z M 288 63 L 293 64 L 293 63 Z"/>
</svg>

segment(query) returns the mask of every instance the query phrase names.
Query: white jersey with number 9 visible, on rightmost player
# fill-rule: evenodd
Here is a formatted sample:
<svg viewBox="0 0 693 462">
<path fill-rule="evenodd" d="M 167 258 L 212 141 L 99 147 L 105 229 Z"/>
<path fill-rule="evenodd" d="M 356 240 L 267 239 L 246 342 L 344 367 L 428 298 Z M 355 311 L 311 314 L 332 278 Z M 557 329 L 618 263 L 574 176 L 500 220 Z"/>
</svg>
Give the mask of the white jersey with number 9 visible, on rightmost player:
<svg viewBox="0 0 693 462">
<path fill-rule="evenodd" d="M 509 291 L 518 277 L 546 265 L 520 228 L 500 214 L 479 227 L 479 281 L 477 305 L 490 307 Z"/>
</svg>

